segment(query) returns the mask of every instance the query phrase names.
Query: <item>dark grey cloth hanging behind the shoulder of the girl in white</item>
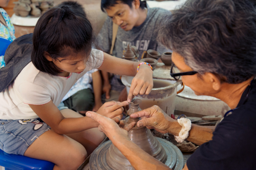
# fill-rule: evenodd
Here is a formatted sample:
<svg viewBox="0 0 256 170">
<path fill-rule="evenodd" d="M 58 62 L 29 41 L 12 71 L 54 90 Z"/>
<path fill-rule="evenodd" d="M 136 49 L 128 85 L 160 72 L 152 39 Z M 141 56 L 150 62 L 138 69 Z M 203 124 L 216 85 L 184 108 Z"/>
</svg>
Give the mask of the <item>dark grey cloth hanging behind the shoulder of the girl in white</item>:
<svg viewBox="0 0 256 170">
<path fill-rule="evenodd" d="M 31 62 L 32 33 L 16 38 L 4 54 L 5 67 L 0 69 L 0 92 L 6 89 L 21 70 Z"/>
</svg>

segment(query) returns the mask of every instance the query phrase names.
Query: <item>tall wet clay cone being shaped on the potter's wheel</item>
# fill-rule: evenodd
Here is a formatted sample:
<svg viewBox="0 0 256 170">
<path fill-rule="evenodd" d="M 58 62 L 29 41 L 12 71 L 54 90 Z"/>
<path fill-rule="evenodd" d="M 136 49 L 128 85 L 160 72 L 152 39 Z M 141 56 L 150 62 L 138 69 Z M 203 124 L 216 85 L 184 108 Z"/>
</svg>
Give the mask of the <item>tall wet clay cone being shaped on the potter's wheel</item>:
<svg viewBox="0 0 256 170">
<path fill-rule="evenodd" d="M 131 114 L 141 111 L 139 104 L 142 101 L 140 99 L 132 99 L 130 104 L 130 109 L 127 114 Z M 138 118 L 125 118 L 126 123 L 131 123 L 132 121 L 139 121 Z M 147 152 L 149 155 L 153 156 L 157 160 L 165 163 L 167 159 L 166 152 L 160 142 L 152 135 L 151 131 L 146 127 L 138 127 L 137 125 L 128 132 L 128 137 L 131 141 L 137 144 L 141 149 Z M 106 153 L 106 162 L 109 167 L 113 170 L 134 170 L 131 163 L 125 158 L 125 156 L 112 144 L 108 152 Z"/>
</svg>

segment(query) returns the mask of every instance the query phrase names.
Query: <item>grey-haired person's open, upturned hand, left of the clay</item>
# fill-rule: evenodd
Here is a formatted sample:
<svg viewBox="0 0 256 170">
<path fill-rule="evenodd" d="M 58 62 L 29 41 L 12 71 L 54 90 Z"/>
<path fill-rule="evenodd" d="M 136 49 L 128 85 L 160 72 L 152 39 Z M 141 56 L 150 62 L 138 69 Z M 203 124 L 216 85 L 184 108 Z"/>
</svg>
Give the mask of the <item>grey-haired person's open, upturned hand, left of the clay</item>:
<svg viewBox="0 0 256 170">
<path fill-rule="evenodd" d="M 112 120 L 90 111 L 86 113 L 86 116 L 97 121 L 99 123 L 99 130 L 104 132 L 112 142 L 121 138 L 128 139 L 128 132 L 136 125 L 136 122 L 131 122 L 124 126 L 124 120 L 120 121 L 118 118 L 114 118 L 114 120 Z M 117 123 L 119 123 L 119 126 Z"/>
</svg>

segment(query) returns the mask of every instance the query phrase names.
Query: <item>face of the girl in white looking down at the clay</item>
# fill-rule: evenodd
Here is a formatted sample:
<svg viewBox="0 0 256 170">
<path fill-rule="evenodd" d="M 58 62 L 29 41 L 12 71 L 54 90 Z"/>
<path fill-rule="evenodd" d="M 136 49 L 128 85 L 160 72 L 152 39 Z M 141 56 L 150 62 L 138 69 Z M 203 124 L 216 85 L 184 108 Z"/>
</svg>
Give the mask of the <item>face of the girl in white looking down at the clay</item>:
<svg viewBox="0 0 256 170">
<path fill-rule="evenodd" d="M 86 60 L 84 56 L 79 54 L 75 59 L 73 59 L 72 57 L 67 57 L 67 58 L 59 57 L 57 60 L 54 60 L 48 55 L 45 55 L 45 57 L 48 61 L 52 61 L 57 67 L 57 69 L 60 71 L 63 70 L 68 73 L 81 73 L 86 68 Z"/>
</svg>

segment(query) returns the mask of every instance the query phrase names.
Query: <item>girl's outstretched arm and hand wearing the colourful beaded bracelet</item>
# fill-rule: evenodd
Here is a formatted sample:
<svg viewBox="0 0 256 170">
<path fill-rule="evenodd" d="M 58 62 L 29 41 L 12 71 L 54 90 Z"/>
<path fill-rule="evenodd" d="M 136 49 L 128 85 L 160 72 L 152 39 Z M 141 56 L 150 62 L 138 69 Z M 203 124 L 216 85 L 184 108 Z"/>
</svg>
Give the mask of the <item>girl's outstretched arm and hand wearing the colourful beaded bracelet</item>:
<svg viewBox="0 0 256 170">
<path fill-rule="evenodd" d="M 135 76 L 128 95 L 128 102 L 131 102 L 133 96 L 149 94 L 153 88 L 153 71 L 148 65 L 142 64 L 139 66 L 137 73 L 139 63 L 141 62 L 131 62 L 104 53 L 104 61 L 99 70 L 119 75 Z"/>
</svg>

